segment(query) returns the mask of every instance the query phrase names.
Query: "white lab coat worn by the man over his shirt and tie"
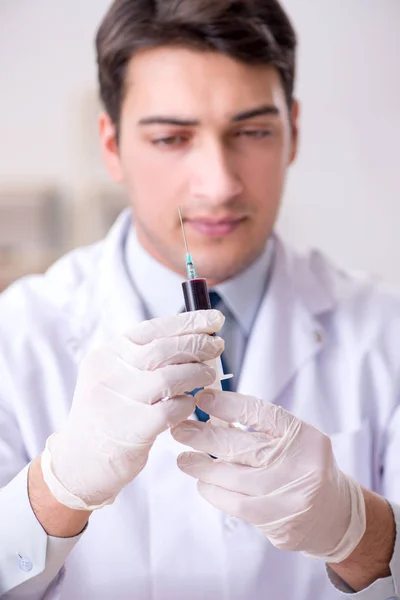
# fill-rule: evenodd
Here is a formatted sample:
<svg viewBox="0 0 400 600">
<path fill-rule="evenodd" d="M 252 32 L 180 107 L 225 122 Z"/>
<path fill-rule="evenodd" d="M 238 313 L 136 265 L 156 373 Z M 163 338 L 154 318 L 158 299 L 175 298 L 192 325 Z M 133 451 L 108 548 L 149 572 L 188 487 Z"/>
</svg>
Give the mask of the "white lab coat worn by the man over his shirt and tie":
<svg viewBox="0 0 400 600">
<path fill-rule="evenodd" d="M 123 266 L 128 227 L 125 213 L 105 242 L 0 298 L 0 486 L 62 427 L 82 356 L 143 318 Z M 343 470 L 400 503 L 399 375 L 399 297 L 347 277 L 318 253 L 298 256 L 277 238 L 238 391 L 328 433 Z M 169 432 L 160 436 L 144 471 L 93 514 L 51 598 L 342 597 L 323 564 L 277 550 L 203 501 L 176 466 L 183 450 Z"/>
</svg>

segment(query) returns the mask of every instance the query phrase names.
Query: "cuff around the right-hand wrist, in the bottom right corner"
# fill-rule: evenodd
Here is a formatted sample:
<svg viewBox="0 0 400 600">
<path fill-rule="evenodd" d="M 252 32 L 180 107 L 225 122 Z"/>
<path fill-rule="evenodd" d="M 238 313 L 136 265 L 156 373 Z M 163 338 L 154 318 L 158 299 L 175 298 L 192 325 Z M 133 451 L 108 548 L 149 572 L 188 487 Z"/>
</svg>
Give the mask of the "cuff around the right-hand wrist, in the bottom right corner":
<svg viewBox="0 0 400 600">
<path fill-rule="evenodd" d="M 400 506 L 390 504 L 390 507 L 396 524 L 394 552 L 389 565 L 391 576 L 377 579 L 364 590 L 355 592 L 327 565 L 330 582 L 343 596 L 351 595 L 359 600 L 395 600 L 400 597 Z"/>
</svg>

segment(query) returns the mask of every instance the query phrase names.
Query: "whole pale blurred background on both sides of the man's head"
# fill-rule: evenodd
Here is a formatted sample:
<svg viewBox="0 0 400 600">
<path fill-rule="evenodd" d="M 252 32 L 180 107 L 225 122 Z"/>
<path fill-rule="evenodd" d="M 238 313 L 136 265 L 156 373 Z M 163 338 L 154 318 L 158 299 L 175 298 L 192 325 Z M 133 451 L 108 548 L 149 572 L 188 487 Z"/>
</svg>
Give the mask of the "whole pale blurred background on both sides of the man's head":
<svg viewBox="0 0 400 600">
<path fill-rule="evenodd" d="M 97 147 L 109 0 L 0 0 L 0 287 L 101 237 L 124 205 Z M 283 0 L 301 147 L 279 230 L 400 283 L 400 0 Z"/>
</svg>

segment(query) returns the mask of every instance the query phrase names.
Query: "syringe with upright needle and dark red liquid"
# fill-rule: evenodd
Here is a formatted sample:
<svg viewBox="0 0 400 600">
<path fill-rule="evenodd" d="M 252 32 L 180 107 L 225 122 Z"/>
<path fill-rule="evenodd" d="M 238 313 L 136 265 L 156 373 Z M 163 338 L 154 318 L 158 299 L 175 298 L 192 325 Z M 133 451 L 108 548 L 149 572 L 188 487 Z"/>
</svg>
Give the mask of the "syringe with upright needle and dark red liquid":
<svg viewBox="0 0 400 600">
<path fill-rule="evenodd" d="M 194 267 L 193 259 L 189 252 L 185 228 L 183 225 L 181 209 L 178 206 L 179 218 L 182 225 L 183 239 L 185 241 L 186 248 L 186 274 L 187 280 L 182 283 L 183 296 L 185 298 L 185 307 L 187 311 L 192 310 L 209 310 L 211 309 L 210 296 L 208 293 L 207 282 L 203 277 L 198 277 L 196 269 Z M 214 335 L 214 334 L 213 334 Z M 209 361 L 211 366 L 215 368 L 216 378 L 214 383 L 207 386 L 209 388 L 215 388 L 222 390 L 221 381 L 224 379 L 230 379 L 233 377 L 232 374 L 225 375 L 222 368 L 221 357 L 218 357 L 212 361 Z"/>
</svg>

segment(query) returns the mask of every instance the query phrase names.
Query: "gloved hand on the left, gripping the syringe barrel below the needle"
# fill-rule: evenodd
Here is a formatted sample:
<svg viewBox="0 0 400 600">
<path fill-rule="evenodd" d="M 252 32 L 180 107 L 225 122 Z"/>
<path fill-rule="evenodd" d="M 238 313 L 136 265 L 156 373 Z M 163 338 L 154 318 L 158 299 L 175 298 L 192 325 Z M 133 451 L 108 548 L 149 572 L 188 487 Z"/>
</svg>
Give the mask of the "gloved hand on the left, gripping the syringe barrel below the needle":
<svg viewBox="0 0 400 600">
<path fill-rule="evenodd" d="M 213 383 L 215 370 L 203 363 L 223 351 L 209 335 L 223 322 L 216 310 L 153 319 L 88 354 L 67 422 L 41 458 L 60 503 L 101 508 L 140 473 L 156 437 L 193 412 L 185 392 Z"/>
</svg>

